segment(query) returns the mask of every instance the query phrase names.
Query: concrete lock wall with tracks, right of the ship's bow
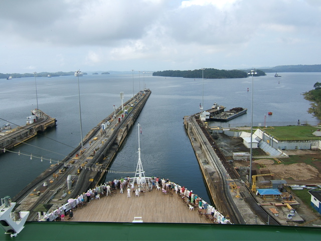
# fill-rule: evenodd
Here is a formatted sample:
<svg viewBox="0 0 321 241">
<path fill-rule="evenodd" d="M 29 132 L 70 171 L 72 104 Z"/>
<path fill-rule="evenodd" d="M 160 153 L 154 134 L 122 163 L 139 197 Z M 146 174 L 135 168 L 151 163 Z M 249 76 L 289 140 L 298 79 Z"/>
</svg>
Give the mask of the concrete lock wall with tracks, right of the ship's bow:
<svg viewBox="0 0 321 241">
<path fill-rule="evenodd" d="M 212 200 L 219 212 L 228 216 L 235 224 L 269 222 L 280 225 L 258 204 L 248 187 L 243 185 L 238 173 L 229 165 L 204 123 L 199 121 L 199 116 L 184 116 L 184 125 Z"/>
</svg>

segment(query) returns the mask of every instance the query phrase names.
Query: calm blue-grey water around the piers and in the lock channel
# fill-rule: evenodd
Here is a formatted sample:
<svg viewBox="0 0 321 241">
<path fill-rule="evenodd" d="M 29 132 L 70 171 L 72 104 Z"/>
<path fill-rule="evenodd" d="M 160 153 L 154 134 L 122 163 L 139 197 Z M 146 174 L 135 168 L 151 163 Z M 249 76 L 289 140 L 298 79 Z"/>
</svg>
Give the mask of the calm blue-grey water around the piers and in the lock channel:
<svg viewBox="0 0 321 241">
<path fill-rule="evenodd" d="M 321 73 L 281 73 L 254 77 L 253 124 L 288 125 L 301 123 L 315 125 L 317 120 L 307 113 L 309 102 L 301 93 L 313 88 Z M 120 106 L 119 92 L 124 101 L 132 97 L 133 80 L 130 74 L 84 75 L 79 78 L 83 136 Z M 226 125 L 249 125 L 251 122 L 251 81 L 246 79 L 205 79 L 204 108 L 214 102 L 233 107 L 248 108 L 248 112 Z M 278 83 L 279 81 L 279 83 Z M 30 110 L 37 107 L 35 78 L 13 80 L 0 79 L 0 117 L 24 126 Z M 140 75 L 140 88 L 145 83 L 152 94 L 146 102 L 137 122 L 141 125 L 141 160 L 146 176 L 159 176 L 192 189 L 209 200 L 198 162 L 183 125 L 184 115 L 199 111 L 202 102 L 202 79 L 165 78 Z M 250 91 L 247 91 L 249 88 Z M 134 92 L 138 92 L 139 77 L 134 75 Z M 28 183 L 50 166 L 49 161 L 30 160 L 43 156 L 62 160 L 80 142 L 77 77 L 37 78 L 39 109 L 57 118 L 57 128 L 43 133 L 28 145 L 20 145 L 16 152 L 0 155 L 0 176 L 3 185 L 0 196 L 15 196 Z M 267 115 L 267 112 L 273 115 Z M 0 119 L 0 124 L 6 121 Z M 137 124 L 136 122 L 136 124 Z M 255 124 L 256 123 L 256 124 Z M 212 124 L 215 125 L 215 124 Z M 118 153 L 111 170 L 132 172 L 137 165 L 137 127 L 133 128 Z M 56 141 L 54 141 L 56 140 Z M 40 149 L 42 148 L 42 149 Z M 127 174 L 108 174 L 106 179 Z M 129 175 L 130 176 L 130 175 Z"/>
</svg>

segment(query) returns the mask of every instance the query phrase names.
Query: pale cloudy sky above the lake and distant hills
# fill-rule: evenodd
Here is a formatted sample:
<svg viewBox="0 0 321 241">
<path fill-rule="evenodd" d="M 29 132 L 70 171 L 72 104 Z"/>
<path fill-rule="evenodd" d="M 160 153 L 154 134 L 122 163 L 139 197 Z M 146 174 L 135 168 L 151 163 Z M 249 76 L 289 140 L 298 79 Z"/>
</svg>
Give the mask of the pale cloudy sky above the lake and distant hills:
<svg viewBox="0 0 321 241">
<path fill-rule="evenodd" d="M 1 0 L 0 73 L 321 64 L 319 0 Z"/>
</svg>

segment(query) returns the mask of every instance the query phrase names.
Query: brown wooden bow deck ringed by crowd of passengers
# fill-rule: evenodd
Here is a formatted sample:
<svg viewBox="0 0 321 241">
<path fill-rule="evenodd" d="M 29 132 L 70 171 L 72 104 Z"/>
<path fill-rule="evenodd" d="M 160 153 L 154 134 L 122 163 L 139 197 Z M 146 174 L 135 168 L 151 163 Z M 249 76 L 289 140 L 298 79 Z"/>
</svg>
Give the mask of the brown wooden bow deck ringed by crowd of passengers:
<svg viewBox="0 0 321 241">
<path fill-rule="evenodd" d="M 210 223 L 204 215 L 198 214 L 198 209 L 190 211 L 182 198 L 175 191 L 171 192 L 173 195 L 153 189 L 139 197 L 131 193 L 131 197 L 128 198 L 127 190 L 123 194 L 117 190 L 116 194 L 100 196 L 100 199 L 91 200 L 86 206 L 77 208 L 71 220 L 132 222 L 134 217 L 141 217 L 143 222 Z"/>
</svg>

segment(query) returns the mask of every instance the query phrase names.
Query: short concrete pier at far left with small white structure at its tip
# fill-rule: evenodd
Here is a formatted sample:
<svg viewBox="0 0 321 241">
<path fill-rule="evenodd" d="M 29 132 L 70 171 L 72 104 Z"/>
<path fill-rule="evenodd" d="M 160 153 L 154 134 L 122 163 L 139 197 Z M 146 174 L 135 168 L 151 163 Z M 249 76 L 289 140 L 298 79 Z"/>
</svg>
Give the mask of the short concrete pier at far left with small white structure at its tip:
<svg viewBox="0 0 321 241">
<path fill-rule="evenodd" d="M 39 116 L 35 123 L 0 132 L 0 153 L 3 153 L 4 149 L 8 150 L 28 141 L 37 136 L 38 132 L 44 132 L 48 128 L 56 127 L 57 120 L 55 118 L 50 117 L 40 109 L 35 109 L 32 112 Z"/>
</svg>

